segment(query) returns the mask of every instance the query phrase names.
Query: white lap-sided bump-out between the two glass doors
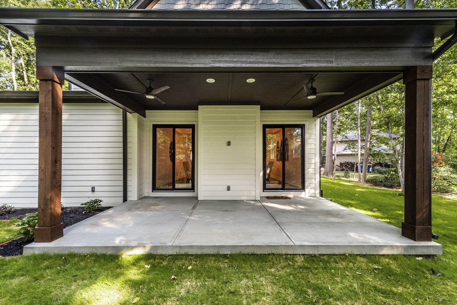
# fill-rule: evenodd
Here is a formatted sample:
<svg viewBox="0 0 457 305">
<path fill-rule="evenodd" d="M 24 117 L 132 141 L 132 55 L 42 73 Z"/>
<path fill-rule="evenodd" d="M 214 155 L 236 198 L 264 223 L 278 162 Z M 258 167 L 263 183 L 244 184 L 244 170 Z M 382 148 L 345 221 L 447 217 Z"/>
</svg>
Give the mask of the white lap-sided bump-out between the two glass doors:
<svg viewBox="0 0 457 305">
<path fill-rule="evenodd" d="M 256 198 L 257 111 L 258 106 L 199 107 L 199 198 Z"/>
</svg>

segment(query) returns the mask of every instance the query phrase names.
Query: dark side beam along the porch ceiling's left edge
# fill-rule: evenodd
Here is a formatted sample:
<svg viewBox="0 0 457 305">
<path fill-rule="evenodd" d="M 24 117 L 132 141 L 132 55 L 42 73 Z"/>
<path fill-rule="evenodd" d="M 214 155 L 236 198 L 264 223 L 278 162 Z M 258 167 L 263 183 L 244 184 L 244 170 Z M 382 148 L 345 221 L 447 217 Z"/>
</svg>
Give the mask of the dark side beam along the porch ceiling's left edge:
<svg viewBox="0 0 457 305">
<path fill-rule="evenodd" d="M 141 105 L 114 90 L 112 84 L 100 75 L 66 73 L 65 79 L 129 113 L 137 113 L 142 117 L 146 117 L 146 110 Z"/>
</svg>

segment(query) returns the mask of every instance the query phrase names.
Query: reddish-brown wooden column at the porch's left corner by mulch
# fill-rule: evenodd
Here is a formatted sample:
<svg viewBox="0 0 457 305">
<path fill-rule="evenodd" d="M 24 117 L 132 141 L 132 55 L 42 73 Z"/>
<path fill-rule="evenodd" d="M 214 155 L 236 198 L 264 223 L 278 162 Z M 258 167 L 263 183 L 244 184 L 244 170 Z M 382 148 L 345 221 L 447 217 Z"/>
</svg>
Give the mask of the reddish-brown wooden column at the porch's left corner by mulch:
<svg viewBox="0 0 457 305">
<path fill-rule="evenodd" d="M 38 146 L 38 226 L 35 242 L 64 236 L 61 223 L 62 190 L 62 84 L 58 67 L 38 66 L 40 80 L 40 131 Z"/>
</svg>

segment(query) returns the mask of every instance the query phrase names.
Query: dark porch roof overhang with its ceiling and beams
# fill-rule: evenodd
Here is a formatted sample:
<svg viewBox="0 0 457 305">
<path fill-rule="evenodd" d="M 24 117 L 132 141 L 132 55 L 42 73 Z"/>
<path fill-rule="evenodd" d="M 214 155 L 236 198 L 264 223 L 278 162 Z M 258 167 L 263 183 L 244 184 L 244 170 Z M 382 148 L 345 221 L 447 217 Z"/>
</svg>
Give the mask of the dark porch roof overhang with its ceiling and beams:
<svg viewBox="0 0 457 305">
<path fill-rule="evenodd" d="M 0 23 L 35 37 L 37 64 L 127 111 L 257 104 L 322 116 L 432 65 L 435 38 L 455 33 L 457 10 L 145 11 L 0 9 Z M 251 76 L 250 76 L 251 75 Z M 309 79 L 344 95 L 302 99 Z M 219 77 L 212 87 L 206 78 Z M 246 77 L 259 82 L 247 87 Z M 137 80 L 143 83 L 143 85 Z M 261 81 L 262 80 L 262 81 Z M 197 82 L 201 81 L 201 82 Z"/>
</svg>

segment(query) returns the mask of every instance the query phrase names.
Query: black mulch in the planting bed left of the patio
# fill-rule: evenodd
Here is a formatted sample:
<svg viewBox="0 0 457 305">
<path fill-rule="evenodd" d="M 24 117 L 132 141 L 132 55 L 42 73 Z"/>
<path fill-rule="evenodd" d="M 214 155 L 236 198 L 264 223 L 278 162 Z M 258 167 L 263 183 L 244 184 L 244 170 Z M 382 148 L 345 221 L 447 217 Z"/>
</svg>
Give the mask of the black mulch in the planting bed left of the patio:
<svg viewBox="0 0 457 305">
<path fill-rule="evenodd" d="M 66 228 L 91 216 L 97 215 L 100 212 L 106 211 L 109 208 L 111 208 L 111 206 L 102 206 L 95 212 L 88 213 L 82 206 L 64 207 L 61 214 L 62 223 L 64 224 L 64 228 Z M 24 218 L 26 214 L 34 213 L 36 211 L 37 209 L 16 209 L 11 214 L 0 215 L 0 220 L 21 219 Z M 33 242 L 33 239 L 26 240 L 24 237 L 11 240 L 3 246 L 0 246 L 0 257 L 22 255 L 24 246 L 31 242 Z"/>
</svg>

